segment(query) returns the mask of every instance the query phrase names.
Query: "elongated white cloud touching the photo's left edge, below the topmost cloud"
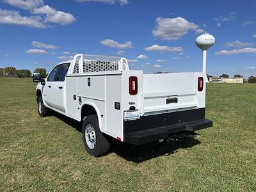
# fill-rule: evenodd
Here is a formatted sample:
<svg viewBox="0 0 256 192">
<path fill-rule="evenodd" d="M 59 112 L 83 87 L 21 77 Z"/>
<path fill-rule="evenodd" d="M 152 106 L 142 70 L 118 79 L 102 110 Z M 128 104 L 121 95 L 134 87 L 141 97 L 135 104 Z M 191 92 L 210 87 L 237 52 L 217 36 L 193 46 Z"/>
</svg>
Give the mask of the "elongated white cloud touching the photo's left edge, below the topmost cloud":
<svg viewBox="0 0 256 192">
<path fill-rule="evenodd" d="M 28 26 L 30 28 L 46 28 L 45 24 L 42 23 L 42 18 L 39 16 L 24 17 L 17 11 L 2 9 L 0 9 L 0 23 Z"/>
</svg>

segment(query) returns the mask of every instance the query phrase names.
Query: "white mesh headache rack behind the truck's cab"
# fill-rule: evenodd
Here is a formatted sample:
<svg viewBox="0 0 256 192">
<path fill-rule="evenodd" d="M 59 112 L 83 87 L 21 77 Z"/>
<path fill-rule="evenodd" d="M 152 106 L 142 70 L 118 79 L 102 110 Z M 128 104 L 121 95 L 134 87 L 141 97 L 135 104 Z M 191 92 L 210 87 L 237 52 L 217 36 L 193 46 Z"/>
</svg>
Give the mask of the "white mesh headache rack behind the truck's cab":
<svg viewBox="0 0 256 192">
<path fill-rule="evenodd" d="M 73 58 L 70 74 L 129 70 L 125 58 L 90 54 L 76 54 Z"/>
</svg>

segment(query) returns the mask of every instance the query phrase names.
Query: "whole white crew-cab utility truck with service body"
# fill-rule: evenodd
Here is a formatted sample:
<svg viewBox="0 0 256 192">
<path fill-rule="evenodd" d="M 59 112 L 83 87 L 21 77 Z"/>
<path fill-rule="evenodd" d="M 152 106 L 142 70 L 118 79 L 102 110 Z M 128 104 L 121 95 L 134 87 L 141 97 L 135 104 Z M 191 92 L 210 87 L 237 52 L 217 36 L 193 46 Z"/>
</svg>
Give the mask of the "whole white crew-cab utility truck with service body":
<svg viewBox="0 0 256 192">
<path fill-rule="evenodd" d="M 33 81 L 39 115 L 51 109 L 83 122 L 84 147 L 95 157 L 108 152 L 109 138 L 143 145 L 212 126 L 204 72 L 143 74 L 125 58 L 76 54 Z"/>
</svg>

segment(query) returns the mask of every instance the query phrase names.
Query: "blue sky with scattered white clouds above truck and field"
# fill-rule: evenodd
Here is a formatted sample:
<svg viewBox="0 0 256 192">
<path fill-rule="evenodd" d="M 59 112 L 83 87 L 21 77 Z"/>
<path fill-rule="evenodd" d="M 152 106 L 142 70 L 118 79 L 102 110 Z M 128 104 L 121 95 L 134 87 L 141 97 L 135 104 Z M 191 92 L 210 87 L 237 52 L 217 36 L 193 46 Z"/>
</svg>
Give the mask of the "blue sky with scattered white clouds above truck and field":
<svg viewBox="0 0 256 192">
<path fill-rule="evenodd" d="M 121 56 L 145 74 L 202 71 L 256 76 L 256 1 L 0 0 L 0 67 L 44 67 L 77 53 Z"/>
</svg>

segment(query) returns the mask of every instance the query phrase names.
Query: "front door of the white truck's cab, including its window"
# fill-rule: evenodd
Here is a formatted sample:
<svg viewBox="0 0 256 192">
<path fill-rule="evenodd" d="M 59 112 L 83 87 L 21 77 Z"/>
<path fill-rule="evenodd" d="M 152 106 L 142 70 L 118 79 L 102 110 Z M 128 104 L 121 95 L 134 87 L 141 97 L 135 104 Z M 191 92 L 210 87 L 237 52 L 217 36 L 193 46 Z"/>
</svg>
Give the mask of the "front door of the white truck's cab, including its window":
<svg viewBox="0 0 256 192">
<path fill-rule="evenodd" d="M 54 108 L 54 106 L 52 104 L 52 87 L 54 85 L 54 82 L 56 81 L 59 66 L 60 65 L 57 65 L 56 67 L 54 67 L 52 69 L 51 73 L 49 74 L 49 76 L 47 77 L 47 79 L 45 81 L 45 86 L 44 86 L 44 90 L 43 90 L 43 100 L 48 106 L 50 106 L 52 108 Z"/>
</svg>

